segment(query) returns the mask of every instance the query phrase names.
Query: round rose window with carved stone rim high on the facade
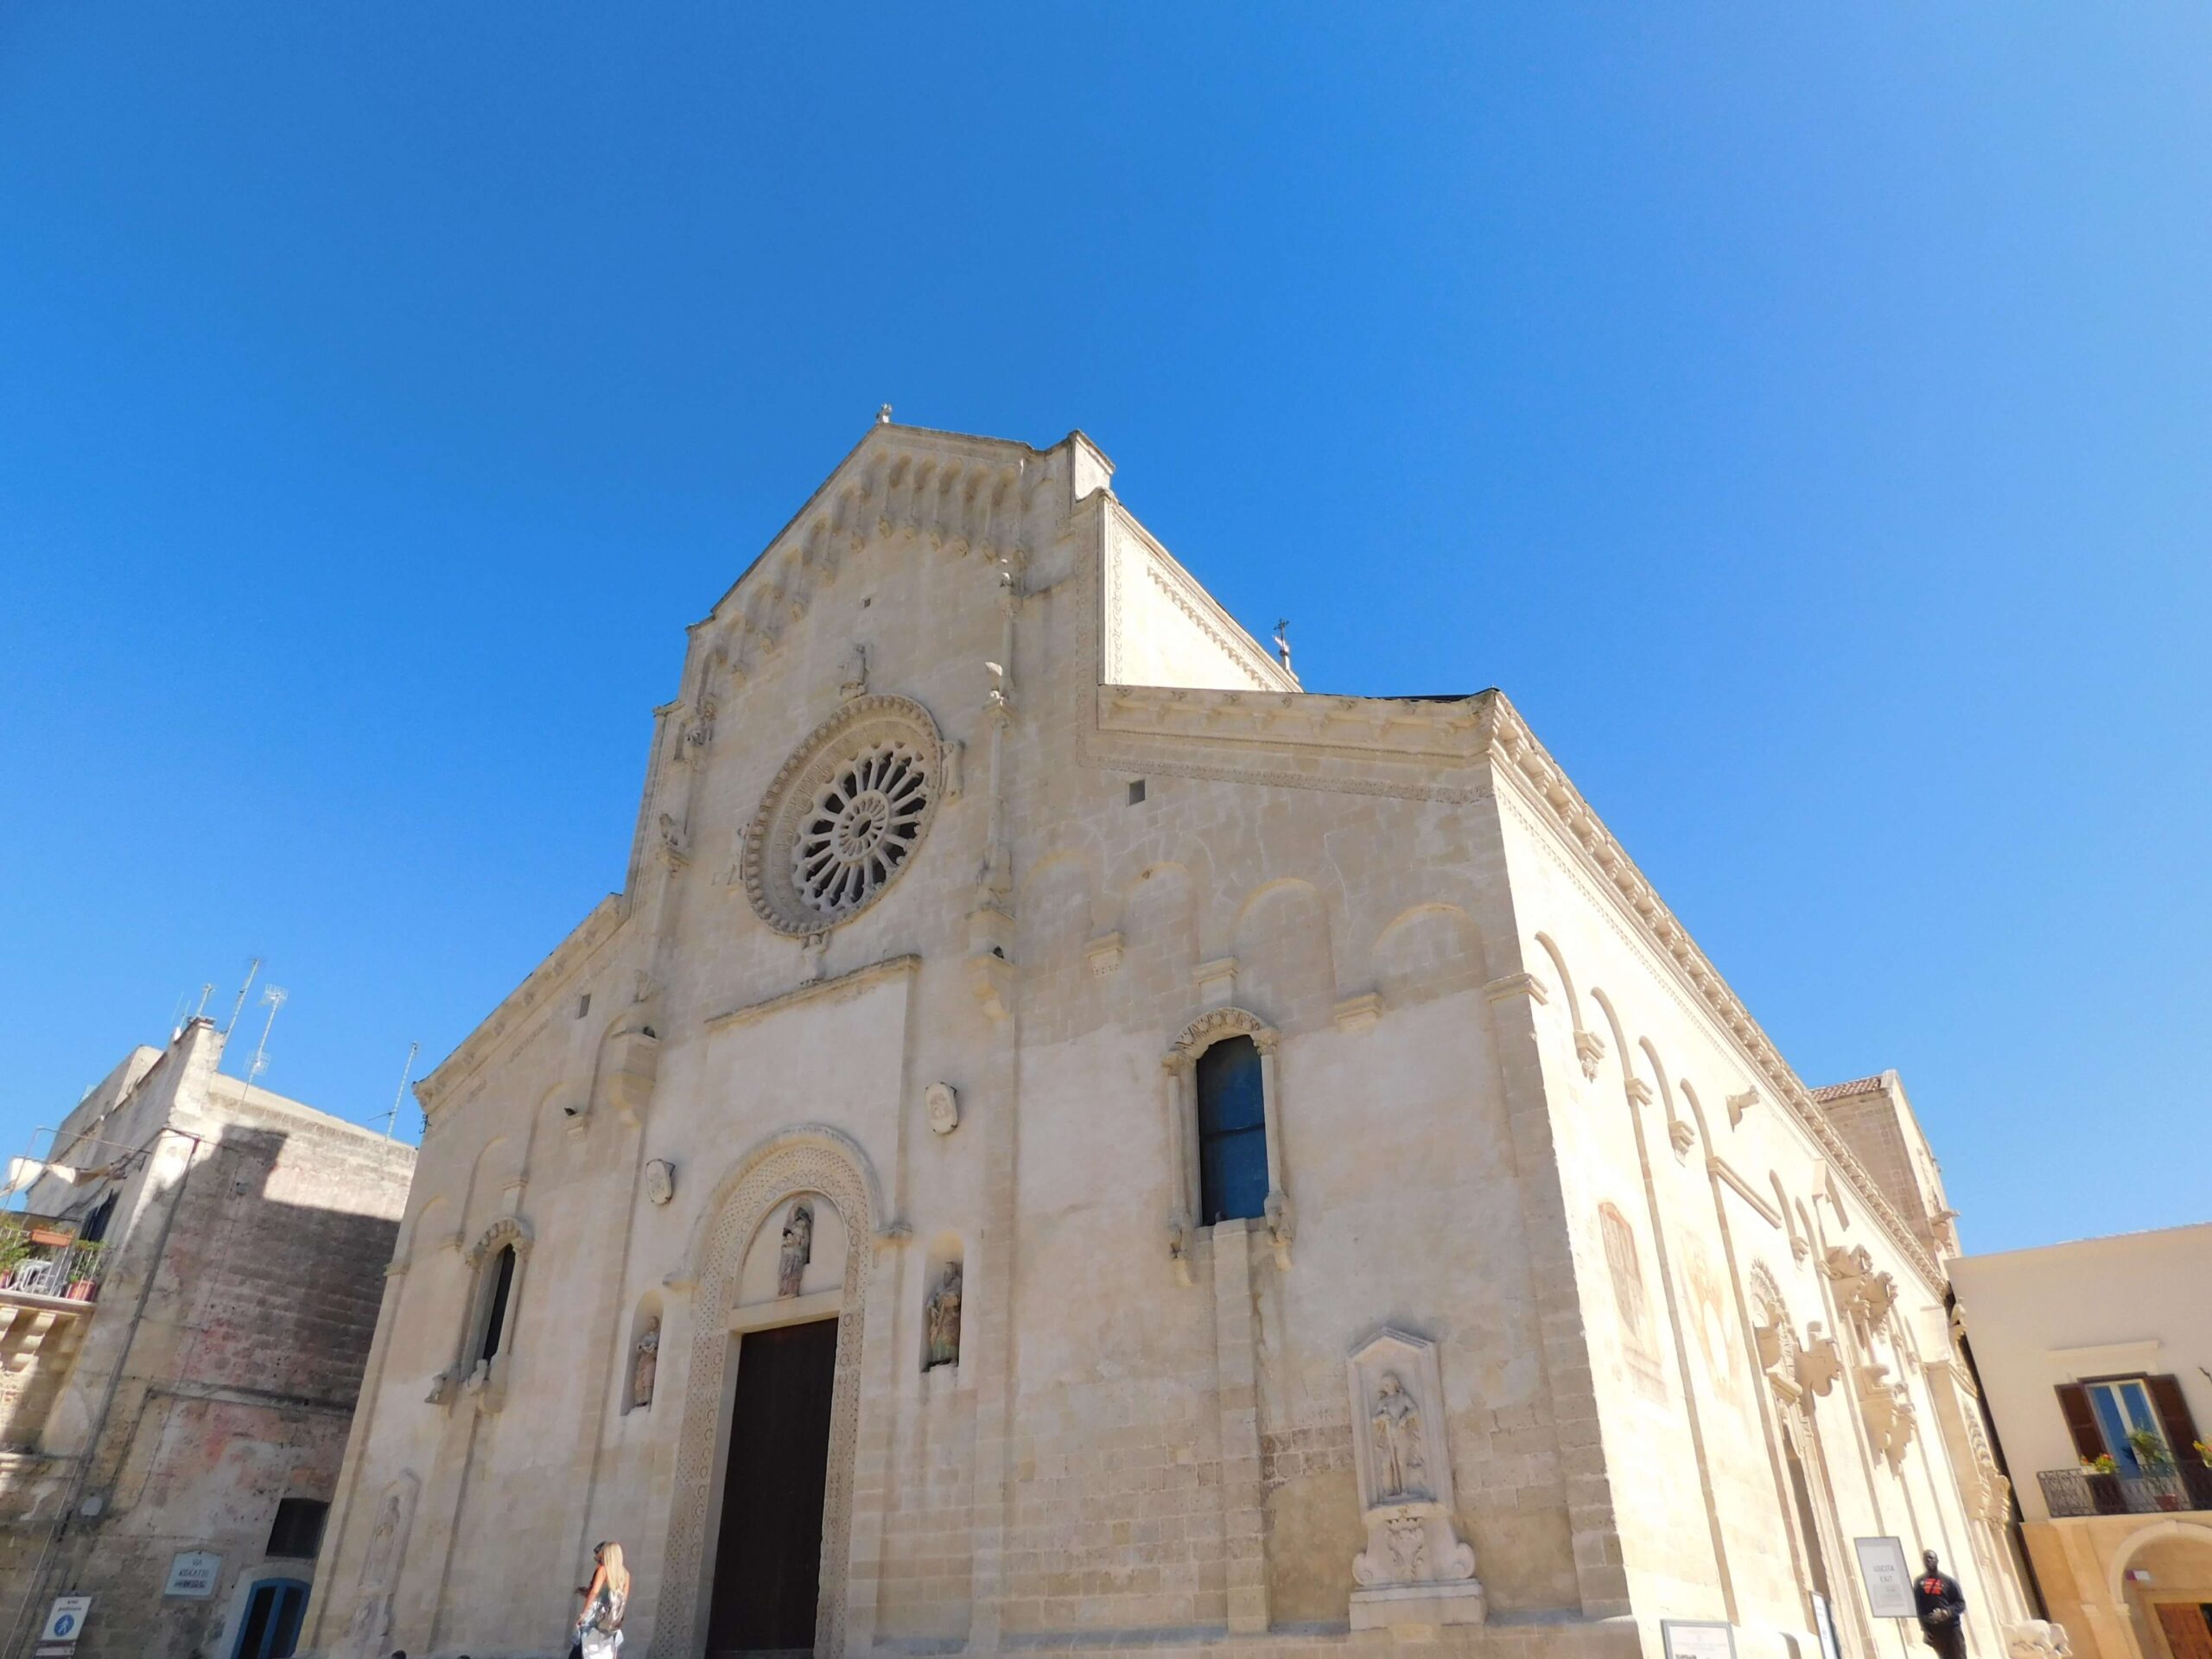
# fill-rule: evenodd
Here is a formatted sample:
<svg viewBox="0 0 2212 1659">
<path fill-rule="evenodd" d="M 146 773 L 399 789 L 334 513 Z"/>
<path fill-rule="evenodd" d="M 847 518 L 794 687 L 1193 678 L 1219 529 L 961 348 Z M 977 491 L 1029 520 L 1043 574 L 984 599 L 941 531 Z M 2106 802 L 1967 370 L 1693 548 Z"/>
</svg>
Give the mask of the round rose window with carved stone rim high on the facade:
<svg viewBox="0 0 2212 1659">
<path fill-rule="evenodd" d="M 776 772 L 745 830 L 745 898 L 807 938 L 860 914 L 914 860 L 942 794 L 942 743 L 907 697 L 854 697 Z"/>
</svg>

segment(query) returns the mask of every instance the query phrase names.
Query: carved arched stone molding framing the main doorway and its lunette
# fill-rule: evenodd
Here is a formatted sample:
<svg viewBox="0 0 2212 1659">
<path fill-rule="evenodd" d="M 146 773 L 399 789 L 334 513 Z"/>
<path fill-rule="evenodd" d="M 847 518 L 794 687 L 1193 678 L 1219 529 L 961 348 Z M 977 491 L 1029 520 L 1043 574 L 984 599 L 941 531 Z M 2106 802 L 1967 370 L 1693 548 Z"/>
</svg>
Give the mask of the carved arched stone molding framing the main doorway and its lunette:
<svg viewBox="0 0 2212 1659">
<path fill-rule="evenodd" d="M 684 1416 L 668 1504 L 666 1577 L 653 1621 L 648 1659 L 699 1652 L 706 1624 L 706 1531 L 714 1491 L 730 1332 L 723 1310 L 737 1294 L 752 1237 L 776 1206 L 794 1194 L 816 1194 L 836 1208 L 852 1245 L 836 1327 L 836 1371 L 830 1402 L 830 1471 L 823 1495 L 821 1615 L 814 1626 L 818 1655 L 845 1646 L 845 1575 L 852 1537 L 854 1442 L 860 1418 L 860 1325 L 867 1272 L 876 1252 L 865 1245 L 878 1221 L 874 1177 L 860 1150 L 834 1130 L 794 1130 L 752 1155 L 717 1206 L 699 1261 L 692 1352 L 684 1376 Z"/>
</svg>

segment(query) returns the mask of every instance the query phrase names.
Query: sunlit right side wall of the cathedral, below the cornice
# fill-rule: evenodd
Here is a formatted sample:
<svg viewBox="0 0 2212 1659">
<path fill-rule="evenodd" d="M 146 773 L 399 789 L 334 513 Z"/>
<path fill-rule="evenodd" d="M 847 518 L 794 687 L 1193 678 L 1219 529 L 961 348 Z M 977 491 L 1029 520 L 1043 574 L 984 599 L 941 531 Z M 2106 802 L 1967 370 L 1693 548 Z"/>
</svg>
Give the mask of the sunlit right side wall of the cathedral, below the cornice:
<svg viewBox="0 0 2212 1659">
<path fill-rule="evenodd" d="M 1964 1371 L 1927 1259 L 1597 865 L 1531 796 L 1502 799 L 1637 1613 L 1818 1652 L 1809 1595 L 1825 1586 L 1845 1652 L 1905 1659 L 1918 1632 L 1869 1617 L 1851 1544 L 1893 1535 L 1913 1566 L 1942 1553 L 1966 1582 L 1973 1648 L 2002 1652 L 2024 1608 L 1969 1506 L 1973 1431 L 1938 1398 Z M 1893 1305 L 1854 1305 L 1882 1274 Z"/>
</svg>

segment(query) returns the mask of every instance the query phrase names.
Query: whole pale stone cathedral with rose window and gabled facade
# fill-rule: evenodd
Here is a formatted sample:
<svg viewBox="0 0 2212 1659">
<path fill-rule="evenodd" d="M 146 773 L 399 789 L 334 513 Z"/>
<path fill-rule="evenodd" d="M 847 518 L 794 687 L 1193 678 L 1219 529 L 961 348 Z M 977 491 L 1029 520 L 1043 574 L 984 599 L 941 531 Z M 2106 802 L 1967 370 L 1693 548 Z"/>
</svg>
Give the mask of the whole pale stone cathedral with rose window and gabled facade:
<svg viewBox="0 0 2212 1659">
<path fill-rule="evenodd" d="M 630 1659 L 1911 1659 L 1885 1537 L 2051 1639 L 1896 1075 L 1809 1091 L 1513 703 L 1307 692 L 1082 434 L 869 429 L 420 1099 L 316 1655 L 562 1655 L 599 1540 Z"/>
</svg>

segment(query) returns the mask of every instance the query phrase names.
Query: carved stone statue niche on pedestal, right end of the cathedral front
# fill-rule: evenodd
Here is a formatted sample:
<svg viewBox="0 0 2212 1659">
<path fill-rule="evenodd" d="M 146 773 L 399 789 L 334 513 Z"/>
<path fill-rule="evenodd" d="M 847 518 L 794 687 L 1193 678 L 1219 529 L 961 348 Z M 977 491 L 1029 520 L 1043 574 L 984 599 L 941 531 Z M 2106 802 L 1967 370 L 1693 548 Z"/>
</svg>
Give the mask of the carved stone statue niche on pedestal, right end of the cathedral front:
<svg viewBox="0 0 2212 1659">
<path fill-rule="evenodd" d="M 1352 1628 L 1482 1624 L 1475 1551 L 1453 1520 L 1436 1343 L 1378 1329 L 1345 1360 L 1367 1548 L 1352 1557 Z"/>
</svg>

